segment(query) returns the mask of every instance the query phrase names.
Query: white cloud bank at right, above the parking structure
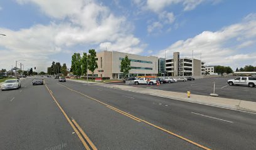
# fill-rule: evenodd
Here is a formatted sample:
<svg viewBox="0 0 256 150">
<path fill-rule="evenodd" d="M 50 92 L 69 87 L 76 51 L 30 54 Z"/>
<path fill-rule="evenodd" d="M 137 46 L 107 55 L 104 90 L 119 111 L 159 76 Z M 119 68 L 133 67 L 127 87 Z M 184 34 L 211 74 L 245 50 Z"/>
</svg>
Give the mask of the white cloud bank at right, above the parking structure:
<svg viewBox="0 0 256 150">
<path fill-rule="evenodd" d="M 191 53 L 194 51 L 195 58 L 200 59 L 201 54 L 202 60 L 209 65 L 243 66 L 245 61 L 252 61 L 256 58 L 253 49 L 251 49 L 251 53 L 247 52 L 247 54 L 242 49 L 255 44 L 255 40 L 252 39 L 256 38 L 256 18 L 253 16 L 250 14 L 242 22 L 223 27 L 219 31 L 203 31 L 195 37 L 174 42 L 157 55 L 163 57 L 166 50 L 168 58 L 173 56 L 174 51 L 179 51 L 182 56 L 191 57 Z M 238 37 L 240 41 L 236 40 Z M 237 46 L 234 47 L 238 44 L 240 49 L 237 49 Z"/>
</svg>

